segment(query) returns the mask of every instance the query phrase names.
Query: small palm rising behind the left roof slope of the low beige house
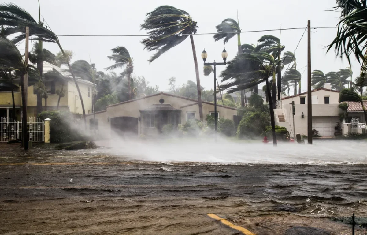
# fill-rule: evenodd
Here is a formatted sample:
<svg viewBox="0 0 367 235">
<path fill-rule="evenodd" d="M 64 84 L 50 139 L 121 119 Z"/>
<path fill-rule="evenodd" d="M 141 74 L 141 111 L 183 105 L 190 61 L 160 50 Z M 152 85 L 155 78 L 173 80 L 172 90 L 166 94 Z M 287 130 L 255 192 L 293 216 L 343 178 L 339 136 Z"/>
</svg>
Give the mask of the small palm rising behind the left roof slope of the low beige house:
<svg viewBox="0 0 367 235">
<path fill-rule="evenodd" d="M 115 47 L 111 49 L 112 55 L 108 56 L 110 60 L 115 61 L 114 65 L 106 68 L 106 70 L 113 70 L 118 68 L 124 68 L 121 73 L 123 79 L 127 75 L 127 88 L 129 94 L 129 100 L 131 100 L 131 73 L 134 72 L 134 60 L 130 56 L 129 51 L 125 47 Z"/>
</svg>

